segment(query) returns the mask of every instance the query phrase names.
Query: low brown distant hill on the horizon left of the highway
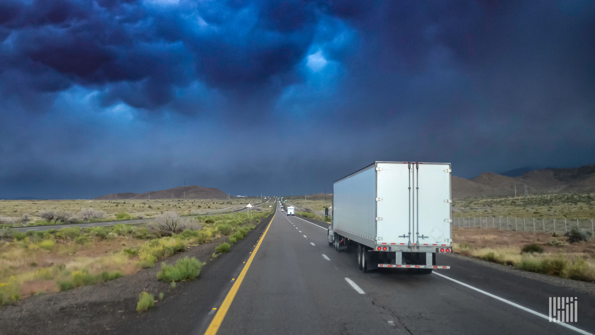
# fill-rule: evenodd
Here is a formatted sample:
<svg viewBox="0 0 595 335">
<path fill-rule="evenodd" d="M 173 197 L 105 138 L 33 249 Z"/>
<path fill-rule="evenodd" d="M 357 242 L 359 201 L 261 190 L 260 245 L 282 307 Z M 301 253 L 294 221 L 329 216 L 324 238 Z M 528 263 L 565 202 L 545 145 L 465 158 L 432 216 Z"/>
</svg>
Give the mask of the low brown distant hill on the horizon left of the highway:
<svg viewBox="0 0 595 335">
<path fill-rule="evenodd" d="M 113 193 L 96 197 L 96 200 L 126 200 L 126 199 L 227 199 L 227 193 L 213 187 L 196 185 L 180 186 L 169 190 L 150 191 L 147 193 Z M 234 196 L 231 196 L 232 198 Z"/>
</svg>

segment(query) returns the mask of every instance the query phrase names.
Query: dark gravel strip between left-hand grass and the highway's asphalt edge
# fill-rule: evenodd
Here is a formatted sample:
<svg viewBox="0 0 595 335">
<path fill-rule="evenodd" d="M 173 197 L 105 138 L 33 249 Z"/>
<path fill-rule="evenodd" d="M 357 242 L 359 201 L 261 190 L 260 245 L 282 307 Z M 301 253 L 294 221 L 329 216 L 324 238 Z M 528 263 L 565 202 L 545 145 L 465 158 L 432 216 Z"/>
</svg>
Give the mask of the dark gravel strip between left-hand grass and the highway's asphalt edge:
<svg viewBox="0 0 595 335">
<path fill-rule="evenodd" d="M 224 236 L 217 241 L 190 247 L 165 260 L 175 263 L 177 259 L 195 257 L 209 262 L 215 247 L 228 241 Z M 176 299 L 181 294 L 184 282 L 171 289 L 170 283 L 157 280 L 160 266 L 141 270 L 117 280 L 42 296 L 30 296 L 16 305 L 0 309 L 1 334 L 96 334 L 114 330 L 126 319 L 136 318 L 138 295 L 146 291 L 158 300 L 164 293 L 164 300 Z M 115 317 L 117 316 L 117 317 Z"/>
</svg>

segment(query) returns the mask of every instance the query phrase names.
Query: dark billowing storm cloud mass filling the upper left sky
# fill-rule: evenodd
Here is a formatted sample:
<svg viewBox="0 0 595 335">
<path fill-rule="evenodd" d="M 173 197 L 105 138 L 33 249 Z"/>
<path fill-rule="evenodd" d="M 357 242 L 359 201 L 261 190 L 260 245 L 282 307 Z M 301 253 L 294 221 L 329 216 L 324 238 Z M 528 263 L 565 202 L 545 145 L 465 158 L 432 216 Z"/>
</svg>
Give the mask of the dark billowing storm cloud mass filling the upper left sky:
<svg viewBox="0 0 595 335">
<path fill-rule="evenodd" d="M 315 5 L 300 1 L 63 0 L 0 6 L 2 68 L 33 78 L 30 89 L 107 85 L 108 101 L 119 98 L 145 108 L 171 101 L 173 88 L 193 79 L 236 91 L 266 85 L 302 59 L 316 23 Z M 48 78 L 36 80 L 40 72 Z M 121 82 L 139 82 L 142 88 L 109 85 Z"/>
</svg>

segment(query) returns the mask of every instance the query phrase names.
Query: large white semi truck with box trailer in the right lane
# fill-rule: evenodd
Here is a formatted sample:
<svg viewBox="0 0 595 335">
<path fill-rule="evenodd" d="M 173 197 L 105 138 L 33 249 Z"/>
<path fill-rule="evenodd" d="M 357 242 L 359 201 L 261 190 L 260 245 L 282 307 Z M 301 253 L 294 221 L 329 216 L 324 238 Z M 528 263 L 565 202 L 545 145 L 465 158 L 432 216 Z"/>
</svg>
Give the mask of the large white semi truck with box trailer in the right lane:
<svg viewBox="0 0 595 335">
<path fill-rule="evenodd" d="M 334 182 L 328 244 L 357 247 L 358 266 L 413 268 L 452 253 L 450 163 L 374 162 Z"/>
</svg>

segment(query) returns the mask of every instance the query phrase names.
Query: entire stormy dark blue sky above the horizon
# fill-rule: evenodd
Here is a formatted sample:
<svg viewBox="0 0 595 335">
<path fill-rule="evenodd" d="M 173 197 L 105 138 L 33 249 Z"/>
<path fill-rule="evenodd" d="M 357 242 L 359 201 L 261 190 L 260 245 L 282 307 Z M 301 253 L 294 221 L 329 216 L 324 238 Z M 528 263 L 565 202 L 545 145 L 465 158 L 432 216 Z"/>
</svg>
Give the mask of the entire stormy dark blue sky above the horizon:
<svg viewBox="0 0 595 335">
<path fill-rule="evenodd" d="M 0 198 L 595 163 L 594 1 L 0 0 Z"/>
</svg>

